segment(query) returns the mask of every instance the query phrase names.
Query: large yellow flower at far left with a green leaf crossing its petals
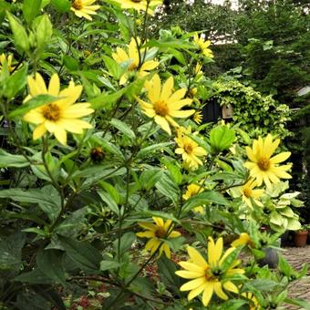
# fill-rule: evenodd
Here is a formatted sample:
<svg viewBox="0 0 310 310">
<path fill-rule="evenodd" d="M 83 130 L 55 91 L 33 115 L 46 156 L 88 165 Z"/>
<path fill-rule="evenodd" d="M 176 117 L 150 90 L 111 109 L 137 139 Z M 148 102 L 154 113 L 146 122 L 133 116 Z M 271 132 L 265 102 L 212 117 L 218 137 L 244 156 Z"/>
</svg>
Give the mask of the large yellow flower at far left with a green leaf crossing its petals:
<svg viewBox="0 0 310 310">
<path fill-rule="evenodd" d="M 56 139 L 63 145 L 67 144 L 67 131 L 82 133 L 83 129 L 91 128 L 91 125 L 79 118 L 87 116 L 94 110 L 89 109 L 89 103 L 74 104 L 82 93 L 81 85 L 74 85 L 70 82 L 67 88 L 60 91 L 60 82 L 57 74 L 50 79 L 48 88 L 40 74 L 36 77 L 28 77 L 29 98 L 37 95 L 50 95 L 57 99 L 26 113 L 24 120 L 36 124 L 37 127 L 33 132 L 33 139 L 41 138 L 47 131 L 54 134 Z"/>
</svg>

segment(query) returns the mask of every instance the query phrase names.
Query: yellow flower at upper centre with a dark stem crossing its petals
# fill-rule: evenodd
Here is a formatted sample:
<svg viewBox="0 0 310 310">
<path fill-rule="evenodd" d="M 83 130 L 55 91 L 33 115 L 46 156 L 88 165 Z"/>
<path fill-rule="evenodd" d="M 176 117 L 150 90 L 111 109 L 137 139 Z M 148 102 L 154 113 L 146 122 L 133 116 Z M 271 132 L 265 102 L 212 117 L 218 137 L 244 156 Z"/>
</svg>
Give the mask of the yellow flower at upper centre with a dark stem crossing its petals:
<svg viewBox="0 0 310 310">
<path fill-rule="evenodd" d="M 139 51 L 137 43 L 138 45 L 140 44 L 140 38 L 138 37 L 136 42 L 136 40 L 132 37 L 129 46 L 127 46 L 128 51 L 125 51 L 124 49 L 117 47 L 116 53 L 113 53 L 112 57 L 119 64 L 125 63 L 128 66 L 129 73 L 138 72 L 138 78 L 143 78 L 149 74 L 148 71 L 155 69 L 156 67 L 159 66 L 160 63 L 154 60 L 147 60 L 142 62 L 145 57 L 146 51 L 144 49 L 141 49 Z M 120 78 L 119 80 L 120 85 L 126 83 L 126 81 L 129 78 L 129 73 L 124 74 Z"/>
</svg>

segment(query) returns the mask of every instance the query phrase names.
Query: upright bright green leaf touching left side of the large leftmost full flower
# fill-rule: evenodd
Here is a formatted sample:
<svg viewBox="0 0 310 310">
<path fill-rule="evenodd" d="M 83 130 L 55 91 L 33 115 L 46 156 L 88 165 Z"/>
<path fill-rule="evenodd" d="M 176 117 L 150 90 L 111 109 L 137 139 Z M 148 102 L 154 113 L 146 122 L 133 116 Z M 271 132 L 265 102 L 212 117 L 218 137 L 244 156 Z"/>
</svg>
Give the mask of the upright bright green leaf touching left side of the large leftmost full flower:
<svg viewBox="0 0 310 310">
<path fill-rule="evenodd" d="M 5 80 L 4 95 L 6 98 L 14 98 L 20 90 L 25 88 L 27 71 L 28 65 L 24 64 Z"/>
</svg>

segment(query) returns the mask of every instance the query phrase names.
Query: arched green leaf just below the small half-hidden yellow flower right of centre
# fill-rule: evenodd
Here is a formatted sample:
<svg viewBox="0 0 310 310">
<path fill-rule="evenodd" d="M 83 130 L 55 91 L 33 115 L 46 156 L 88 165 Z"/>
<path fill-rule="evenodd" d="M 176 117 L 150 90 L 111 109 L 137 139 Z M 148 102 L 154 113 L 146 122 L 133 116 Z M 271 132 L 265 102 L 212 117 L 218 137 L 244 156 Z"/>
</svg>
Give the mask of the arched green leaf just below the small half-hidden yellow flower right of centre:
<svg viewBox="0 0 310 310">
<path fill-rule="evenodd" d="M 197 195 L 192 196 L 188 201 L 184 203 L 183 212 L 189 212 L 191 209 L 200 205 L 213 202 L 221 205 L 230 205 L 220 192 L 218 191 L 203 191 Z"/>
</svg>

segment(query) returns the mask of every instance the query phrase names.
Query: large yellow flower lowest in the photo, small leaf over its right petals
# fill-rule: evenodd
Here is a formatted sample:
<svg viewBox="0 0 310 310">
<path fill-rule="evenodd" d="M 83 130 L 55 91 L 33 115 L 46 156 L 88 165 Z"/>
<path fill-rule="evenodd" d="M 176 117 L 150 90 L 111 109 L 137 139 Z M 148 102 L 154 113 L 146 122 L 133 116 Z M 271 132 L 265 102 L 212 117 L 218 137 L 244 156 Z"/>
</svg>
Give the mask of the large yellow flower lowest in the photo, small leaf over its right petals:
<svg viewBox="0 0 310 310">
<path fill-rule="evenodd" d="M 241 262 L 235 260 L 228 269 L 222 269 L 223 262 L 234 250 L 235 248 L 231 247 L 222 255 L 222 238 L 214 243 L 212 237 L 209 237 L 208 261 L 206 261 L 196 249 L 191 246 L 187 248 L 190 259 L 187 262 L 180 262 L 181 267 L 185 270 L 177 271 L 175 274 L 185 279 L 191 279 L 190 282 L 180 287 L 181 291 L 191 291 L 188 294 L 189 301 L 202 294 L 202 304 L 207 306 L 213 292 L 223 300 L 227 300 L 228 296 L 222 289 L 238 294 L 237 286 L 225 277 L 243 274 L 243 269 L 235 268 Z"/>
</svg>

